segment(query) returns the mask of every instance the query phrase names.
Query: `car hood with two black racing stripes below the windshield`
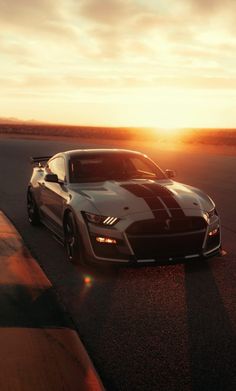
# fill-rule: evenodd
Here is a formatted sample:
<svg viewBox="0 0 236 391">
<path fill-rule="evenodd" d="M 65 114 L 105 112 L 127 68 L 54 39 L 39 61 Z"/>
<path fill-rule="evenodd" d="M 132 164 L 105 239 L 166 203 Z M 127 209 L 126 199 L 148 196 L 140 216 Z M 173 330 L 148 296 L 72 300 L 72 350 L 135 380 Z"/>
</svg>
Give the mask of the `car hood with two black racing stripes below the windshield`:
<svg viewBox="0 0 236 391">
<path fill-rule="evenodd" d="M 214 203 L 201 190 L 172 180 L 105 181 L 73 185 L 73 191 L 86 197 L 101 215 L 124 217 L 153 210 L 179 210 L 186 216 L 201 216 Z"/>
</svg>

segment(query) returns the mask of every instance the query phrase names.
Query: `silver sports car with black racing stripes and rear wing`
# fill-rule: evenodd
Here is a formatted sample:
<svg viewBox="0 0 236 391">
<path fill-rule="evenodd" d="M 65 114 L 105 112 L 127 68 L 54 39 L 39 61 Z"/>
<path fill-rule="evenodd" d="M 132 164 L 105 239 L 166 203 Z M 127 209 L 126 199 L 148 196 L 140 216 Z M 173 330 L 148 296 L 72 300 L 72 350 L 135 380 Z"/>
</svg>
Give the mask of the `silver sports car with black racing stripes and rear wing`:
<svg viewBox="0 0 236 391">
<path fill-rule="evenodd" d="M 32 162 L 29 222 L 53 231 L 72 262 L 158 263 L 220 252 L 212 199 L 140 152 L 79 149 Z"/>
</svg>

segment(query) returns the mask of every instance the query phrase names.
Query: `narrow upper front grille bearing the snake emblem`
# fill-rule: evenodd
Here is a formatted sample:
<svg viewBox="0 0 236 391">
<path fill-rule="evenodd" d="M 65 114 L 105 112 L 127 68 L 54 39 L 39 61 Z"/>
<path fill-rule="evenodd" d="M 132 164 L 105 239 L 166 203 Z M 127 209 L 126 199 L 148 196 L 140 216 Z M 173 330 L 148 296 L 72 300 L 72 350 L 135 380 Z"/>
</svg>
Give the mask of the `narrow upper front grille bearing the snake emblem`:
<svg viewBox="0 0 236 391">
<path fill-rule="evenodd" d="M 126 233 L 128 235 L 156 235 L 193 232 L 206 229 L 206 222 L 202 217 L 185 217 L 167 220 L 143 220 L 131 224 Z"/>
</svg>

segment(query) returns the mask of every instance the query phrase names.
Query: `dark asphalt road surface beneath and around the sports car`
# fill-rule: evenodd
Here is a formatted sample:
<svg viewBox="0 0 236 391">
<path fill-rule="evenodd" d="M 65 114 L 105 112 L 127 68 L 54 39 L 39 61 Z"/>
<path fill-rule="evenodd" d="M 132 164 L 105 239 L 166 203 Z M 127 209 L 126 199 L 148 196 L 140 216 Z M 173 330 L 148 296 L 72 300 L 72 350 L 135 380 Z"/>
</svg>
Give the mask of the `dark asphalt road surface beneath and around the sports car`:
<svg viewBox="0 0 236 391">
<path fill-rule="evenodd" d="M 177 180 L 201 187 L 215 200 L 224 257 L 158 267 L 81 268 L 66 262 L 63 247 L 46 228 L 28 224 L 25 202 L 29 157 L 80 146 L 1 139 L 0 209 L 52 282 L 105 387 L 236 389 L 236 156 L 142 147 L 161 167 L 175 169 Z"/>
</svg>

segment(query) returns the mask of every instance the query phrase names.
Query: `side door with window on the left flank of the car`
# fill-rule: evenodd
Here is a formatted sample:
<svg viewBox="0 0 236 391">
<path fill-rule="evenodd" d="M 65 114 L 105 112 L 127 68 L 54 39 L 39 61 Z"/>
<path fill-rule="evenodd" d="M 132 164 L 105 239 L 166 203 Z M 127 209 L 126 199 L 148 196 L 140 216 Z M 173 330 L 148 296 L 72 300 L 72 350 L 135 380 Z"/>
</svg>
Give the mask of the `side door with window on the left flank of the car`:
<svg viewBox="0 0 236 391">
<path fill-rule="evenodd" d="M 56 174 L 58 183 L 45 180 L 47 174 Z M 45 223 L 56 233 L 63 232 L 63 207 L 67 194 L 65 160 L 63 156 L 51 159 L 45 167 L 41 182 L 41 214 Z"/>
</svg>

